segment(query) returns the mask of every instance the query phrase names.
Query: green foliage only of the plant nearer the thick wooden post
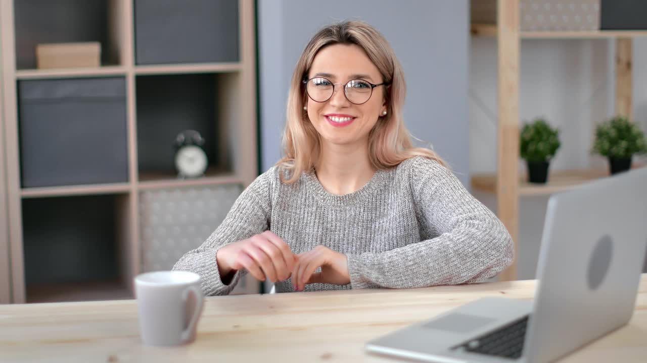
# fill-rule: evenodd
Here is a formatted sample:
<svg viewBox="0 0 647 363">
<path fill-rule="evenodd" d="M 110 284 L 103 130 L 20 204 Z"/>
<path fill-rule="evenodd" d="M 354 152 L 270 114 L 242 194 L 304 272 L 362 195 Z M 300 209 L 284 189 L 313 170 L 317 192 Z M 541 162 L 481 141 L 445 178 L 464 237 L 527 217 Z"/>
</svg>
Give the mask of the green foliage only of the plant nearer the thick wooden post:
<svg viewBox="0 0 647 363">
<path fill-rule="evenodd" d="M 550 161 L 560 145 L 559 131 L 551 127 L 544 118 L 535 118 L 521 129 L 521 158 L 526 161 Z"/>
</svg>

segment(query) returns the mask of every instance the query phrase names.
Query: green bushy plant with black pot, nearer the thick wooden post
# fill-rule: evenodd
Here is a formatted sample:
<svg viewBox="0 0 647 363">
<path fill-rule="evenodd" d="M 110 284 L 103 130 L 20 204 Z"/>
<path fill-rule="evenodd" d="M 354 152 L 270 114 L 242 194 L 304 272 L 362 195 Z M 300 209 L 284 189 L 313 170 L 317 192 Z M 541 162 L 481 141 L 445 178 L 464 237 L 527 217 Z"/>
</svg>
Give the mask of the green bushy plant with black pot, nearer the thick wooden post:
<svg viewBox="0 0 647 363">
<path fill-rule="evenodd" d="M 528 165 L 528 181 L 545 183 L 551 159 L 560 148 L 559 131 L 544 118 L 523 125 L 520 134 L 521 158 Z"/>
</svg>

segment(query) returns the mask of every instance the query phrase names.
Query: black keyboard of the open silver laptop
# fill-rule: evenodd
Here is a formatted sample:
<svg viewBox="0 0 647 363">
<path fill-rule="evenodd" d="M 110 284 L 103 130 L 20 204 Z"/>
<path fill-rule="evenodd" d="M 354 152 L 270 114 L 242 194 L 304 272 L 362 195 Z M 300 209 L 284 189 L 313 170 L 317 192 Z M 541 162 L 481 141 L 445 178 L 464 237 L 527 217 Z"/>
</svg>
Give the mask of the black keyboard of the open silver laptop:
<svg viewBox="0 0 647 363">
<path fill-rule="evenodd" d="M 520 358 L 523 351 L 526 326 L 529 316 L 516 320 L 507 326 L 474 338 L 454 347 L 470 353 L 496 355 L 497 357 Z"/>
</svg>

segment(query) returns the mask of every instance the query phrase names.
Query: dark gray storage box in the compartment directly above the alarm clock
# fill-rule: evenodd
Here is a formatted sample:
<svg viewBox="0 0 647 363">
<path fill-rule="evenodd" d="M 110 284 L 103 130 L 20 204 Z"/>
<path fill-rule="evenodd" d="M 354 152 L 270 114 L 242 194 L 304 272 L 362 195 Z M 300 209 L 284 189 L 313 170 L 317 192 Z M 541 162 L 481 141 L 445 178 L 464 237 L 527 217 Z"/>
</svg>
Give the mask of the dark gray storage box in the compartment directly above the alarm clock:
<svg viewBox="0 0 647 363">
<path fill-rule="evenodd" d="M 138 65 L 236 62 L 237 0 L 135 0 Z"/>
</svg>

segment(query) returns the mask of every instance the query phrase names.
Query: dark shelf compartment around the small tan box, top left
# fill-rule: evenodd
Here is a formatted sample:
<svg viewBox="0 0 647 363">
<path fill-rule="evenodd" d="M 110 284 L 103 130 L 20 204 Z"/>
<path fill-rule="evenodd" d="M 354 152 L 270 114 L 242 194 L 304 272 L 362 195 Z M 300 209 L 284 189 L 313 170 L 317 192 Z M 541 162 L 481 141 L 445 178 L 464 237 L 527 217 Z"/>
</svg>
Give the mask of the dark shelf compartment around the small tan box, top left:
<svg viewBox="0 0 647 363">
<path fill-rule="evenodd" d="M 98 41 L 102 65 L 124 64 L 123 5 L 123 0 L 14 1 L 17 70 L 36 68 L 36 45 L 43 43 Z"/>
</svg>

